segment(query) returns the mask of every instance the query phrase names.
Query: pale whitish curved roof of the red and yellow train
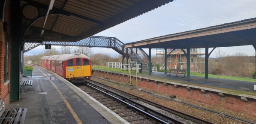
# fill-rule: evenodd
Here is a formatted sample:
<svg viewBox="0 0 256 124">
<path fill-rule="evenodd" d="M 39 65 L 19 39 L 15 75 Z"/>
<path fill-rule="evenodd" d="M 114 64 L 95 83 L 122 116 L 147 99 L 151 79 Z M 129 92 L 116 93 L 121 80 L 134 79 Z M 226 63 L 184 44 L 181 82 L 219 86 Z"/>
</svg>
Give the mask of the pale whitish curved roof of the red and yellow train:
<svg viewBox="0 0 256 124">
<path fill-rule="evenodd" d="M 57 58 L 56 58 L 57 57 Z M 72 53 L 72 54 L 59 54 L 59 55 L 52 55 L 52 56 L 44 56 L 41 57 L 40 59 L 49 59 L 49 60 L 69 60 L 69 59 L 73 59 L 73 58 L 86 58 L 89 59 L 89 57 L 87 57 L 84 54 L 80 54 L 80 53 Z"/>
</svg>

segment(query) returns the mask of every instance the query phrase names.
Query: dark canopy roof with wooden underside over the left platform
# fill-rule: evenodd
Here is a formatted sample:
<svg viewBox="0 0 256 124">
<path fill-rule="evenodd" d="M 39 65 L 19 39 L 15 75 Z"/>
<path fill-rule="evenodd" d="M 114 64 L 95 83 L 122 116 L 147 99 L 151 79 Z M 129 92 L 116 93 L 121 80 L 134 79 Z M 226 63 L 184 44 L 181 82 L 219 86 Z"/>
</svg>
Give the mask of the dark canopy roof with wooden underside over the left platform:
<svg viewBox="0 0 256 124">
<path fill-rule="evenodd" d="M 23 42 L 75 42 L 172 1 L 21 0 L 21 36 Z"/>
</svg>

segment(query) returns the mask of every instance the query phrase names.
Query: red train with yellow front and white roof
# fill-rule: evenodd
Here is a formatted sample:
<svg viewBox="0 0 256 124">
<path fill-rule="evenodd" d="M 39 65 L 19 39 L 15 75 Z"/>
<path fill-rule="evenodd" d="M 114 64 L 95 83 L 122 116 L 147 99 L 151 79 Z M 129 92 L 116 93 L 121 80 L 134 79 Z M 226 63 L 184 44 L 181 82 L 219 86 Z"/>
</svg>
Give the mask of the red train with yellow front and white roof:
<svg viewBox="0 0 256 124">
<path fill-rule="evenodd" d="M 85 82 L 92 76 L 91 59 L 84 54 L 59 54 L 40 58 L 40 66 L 71 83 Z"/>
</svg>

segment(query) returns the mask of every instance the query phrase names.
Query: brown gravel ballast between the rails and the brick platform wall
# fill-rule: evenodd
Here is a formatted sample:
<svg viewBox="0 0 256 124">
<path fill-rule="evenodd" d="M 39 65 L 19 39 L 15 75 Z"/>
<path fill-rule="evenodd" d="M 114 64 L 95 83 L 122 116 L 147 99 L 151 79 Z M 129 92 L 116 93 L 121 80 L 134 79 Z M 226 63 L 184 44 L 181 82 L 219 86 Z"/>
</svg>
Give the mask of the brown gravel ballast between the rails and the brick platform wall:
<svg viewBox="0 0 256 124">
<path fill-rule="evenodd" d="M 159 99 L 159 98 L 151 96 L 151 94 L 149 94 L 149 93 L 137 90 L 136 88 L 130 88 L 130 87 L 127 87 L 127 86 L 124 86 L 124 85 L 119 85 L 119 84 L 116 84 L 116 83 L 113 83 L 113 82 L 108 82 L 106 80 L 95 78 L 95 77 L 92 77 L 91 80 L 96 81 L 96 82 L 101 82 L 101 83 L 103 83 L 105 85 L 108 85 L 110 87 L 113 87 L 113 88 L 118 88 L 121 91 L 124 91 L 124 92 L 130 93 L 130 94 L 136 95 L 138 97 L 150 100 L 150 101 L 152 101 L 154 103 L 157 103 L 157 104 L 160 104 L 162 106 L 166 106 L 166 107 L 169 107 L 171 109 L 176 109 L 180 112 L 184 112 L 186 114 L 193 115 L 197 118 L 205 119 L 205 120 L 213 122 L 215 124 L 248 124 L 248 123 L 243 123 L 241 121 L 237 121 L 237 120 L 234 120 L 234 119 L 231 119 L 231 118 L 228 118 L 228 117 L 224 117 L 222 115 L 217 115 L 217 114 L 214 114 L 212 112 L 208 112 L 206 110 L 197 109 L 195 107 L 188 106 L 188 105 L 176 102 L 176 101 L 166 100 L 166 99 Z M 142 88 L 142 87 L 138 87 L 138 88 Z M 162 92 L 153 91 L 149 88 L 142 88 L 142 89 L 144 91 L 153 92 L 155 94 L 160 94 L 162 96 L 169 96 L 170 95 L 170 94 L 164 94 Z M 197 101 L 194 101 L 194 100 L 189 100 L 189 99 L 185 99 L 185 98 L 181 98 L 181 97 L 176 97 L 175 99 L 186 102 L 186 103 L 189 103 L 189 104 L 193 104 L 193 105 L 196 105 L 196 106 L 204 107 L 204 108 L 216 111 L 216 112 L 224 113 L 226 115 L 231 115 L 231 116 L 241 118 L 241 119 L 244 119 L 244 120 L 249 120 L 249 121 L 252 121 L 252 122 L 256 123 L 256 118 L 248 116 L 248 115 L 243 115 L 243 114 L 238 113 L 238 112 L 233 112 L 233 111 L 230 111 L 228 109 L 223 109 L 223 108 L 219 108 L 217 106 L 207 105 L 207 104 L 204 104 L 204 103 L 200 103 L 200 102 L 197 102 Z"/>
</svg>

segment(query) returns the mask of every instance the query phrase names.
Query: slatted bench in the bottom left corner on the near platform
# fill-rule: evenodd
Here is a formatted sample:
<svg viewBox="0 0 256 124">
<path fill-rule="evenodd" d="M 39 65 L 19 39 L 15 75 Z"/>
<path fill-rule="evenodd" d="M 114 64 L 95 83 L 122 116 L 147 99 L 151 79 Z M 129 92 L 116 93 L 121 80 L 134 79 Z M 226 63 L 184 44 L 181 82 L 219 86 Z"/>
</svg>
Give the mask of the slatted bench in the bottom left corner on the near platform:
<svg viewBox="0 0 256 124">
<path fill-rule="evenodd" d="M 27 108 L 22 108 L 18 106 L 19 104 L 5 105 L 1 99 L 0 124 L 24 124 Z"/>
</svg>

